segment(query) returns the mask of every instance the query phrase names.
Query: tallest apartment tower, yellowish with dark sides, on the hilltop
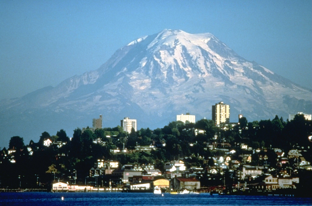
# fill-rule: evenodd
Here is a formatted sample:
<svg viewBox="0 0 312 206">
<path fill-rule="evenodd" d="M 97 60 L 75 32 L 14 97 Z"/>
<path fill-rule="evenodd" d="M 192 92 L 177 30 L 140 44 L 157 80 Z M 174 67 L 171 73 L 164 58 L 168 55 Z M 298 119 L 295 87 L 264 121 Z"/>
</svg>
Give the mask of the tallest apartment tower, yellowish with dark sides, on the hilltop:
<svg viewBox="0 0 312 206">
<path fill-rule="evenodd" d="M 223 101 L 212 105 L 212 120 L 216 125 L 228 123 L 230 121 L 230 105 L 224 104 Z"/>
</svg>

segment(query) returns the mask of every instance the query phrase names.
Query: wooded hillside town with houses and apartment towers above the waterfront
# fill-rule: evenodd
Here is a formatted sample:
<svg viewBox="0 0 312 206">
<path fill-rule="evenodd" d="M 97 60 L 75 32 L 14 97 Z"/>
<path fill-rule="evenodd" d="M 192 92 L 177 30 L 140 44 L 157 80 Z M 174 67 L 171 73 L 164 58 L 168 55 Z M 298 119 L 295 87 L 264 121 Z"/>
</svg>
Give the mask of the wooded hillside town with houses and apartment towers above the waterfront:
<svg viewBox="0 0 312 206">
<path fill-rule="evenodd" d="M 223 102 L 217 107 L 227 110 Z M 129 118 L 102 128 L 100 115 L 92 128 L 75 129 L 72 138 L 64 130 L 45 131 L 39 141 L 25 145 L 14 136 L 1 150 L 0 191 L 55 191 L 63 184 L 62 191 L 159 186 L 163 191 L 310 195 L 311 120 L 297 114 L 287 121 L 276 115 L 248 122 L 240 115 L 229 123 L 225 113 L 218 114 L 196 122 L 193 115 L 177 115 L 177 121 L 155 130 L 137 130 Z"/>
</svg>

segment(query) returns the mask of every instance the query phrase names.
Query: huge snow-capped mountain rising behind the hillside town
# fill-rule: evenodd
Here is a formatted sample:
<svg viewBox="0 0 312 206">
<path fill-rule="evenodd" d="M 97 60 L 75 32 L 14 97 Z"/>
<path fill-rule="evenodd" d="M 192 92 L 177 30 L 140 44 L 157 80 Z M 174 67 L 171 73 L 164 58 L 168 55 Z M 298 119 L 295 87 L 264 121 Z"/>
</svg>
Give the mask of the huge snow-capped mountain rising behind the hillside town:
<svg viewBox="0 0 312 206">
<path fill-rule="evenodd" d="M 92 126 L 99 114 L 103 127 L 114 127 L 125 116 L 137 119 L 139 128 L 163 127 L 185 112 L 211 119 L 212 105 L 220 101 L 230 105 L 232 122 L 240 112 L 250 121 L 275 115 L 286 120 L 290 113 L 311 113 L 311 95 L 210 33 L 163 30 L 120 48 L 95 71 L 2 100 L 1 128 L 6 129 L 0 135 L 36 140 L 43 131 L 60 129 L 71 135 L 77 127 Z"/>
</svg>

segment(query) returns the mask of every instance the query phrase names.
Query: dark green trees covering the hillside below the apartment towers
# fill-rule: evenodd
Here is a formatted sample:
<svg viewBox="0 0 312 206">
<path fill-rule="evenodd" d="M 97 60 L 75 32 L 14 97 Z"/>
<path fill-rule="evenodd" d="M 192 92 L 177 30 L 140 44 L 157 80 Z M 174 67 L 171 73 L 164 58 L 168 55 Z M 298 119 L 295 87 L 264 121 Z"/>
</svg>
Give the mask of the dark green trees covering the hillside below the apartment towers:
<svg viewBox="0 0 312 206">
<path fill-rule="evenodd" d="M 204 133 L 195 135 L 196 130 L 203 130 Z M 11 163 L 4 156 L 7 153 L 6 149 L 2 150 L 1 186 L 16 187 L 23 180 L 22 187 L 34 187 L 38 186 L 38 177 L 42 183 L 50 183 L 55 178 L 72 179 L 75 175 L 84 182 L 85 177 L 89 174 L 89 169 L 94 166 L 97 159 L 118 160 L 120 164 L 152 163 L 156 168 L 163 169 L 164 163 L 168 160 L 191 156 L 192 158 L 187 164 L 201 166 L 200 157 L 221 155 L 220 152 L 207 150 L 207 145 L 212 142 L 228 142 L 237 150 L 240 150 L 238 143 L 245 143 L 253 148 L 278 147 L 284 151 L 298 145 L 308 150 L 307 160 L 312 162 L 311 148 L 308 148 L 311 145 L 308 140 L 311 132 L 311 121 L 305 120 L 303 115 L 297 115 L 294 120 L 287 122 L 278 116 L 275 116 L 273 120 L 259 122 L 248 122 L 243 117 L 233 128 L 225 125 L 216 127 L 212 120 L 207 119 L 199 120 L 196 123 L 174 121 L 163 128 L 155 130 L 142 128 L 138 131 L 132 130 L 130 134 L 124 132 L 120 126 L 97 129 L 95 132 L 90 129 L 82 132 L 80 128 L 77 128 L 74 130 L 71 141 L 66 132 L 60 130 L 52 136 L 43 132 L 37 143 L 30 141 L 28 145 L 24 145 L 23 138 L 15 136 L 9 142 L 9 149 L 16 150 L 13 154 L 16 162 Z M 93 140 L 98 138 L 105 141 L 106 144 L 94 144 Z M 67 142 L 67 144 L 61 148 L 57 145 L 46 147 L 43 145 L 43 141 L 46 139 L 53 142 Z M 165 146 L 163 146 L 164 144 Z M 110 152 L 116 147 L 125 146 L 131 150 L 138 145 L 156 145 L 159 149 L 152 152 L 127 154 Z M 29 148 L 32 149 L 32 155 L 29 153 Z M 243 151 L 240 152 L 243 153 Z M 253 164 L 259 164 L 259 162 L 253 162 Z M 275 162 L 272 161 L 271 164 L 274 165 Z M 75 174 L 76 172 L 77 174 Z"/>
</svg>

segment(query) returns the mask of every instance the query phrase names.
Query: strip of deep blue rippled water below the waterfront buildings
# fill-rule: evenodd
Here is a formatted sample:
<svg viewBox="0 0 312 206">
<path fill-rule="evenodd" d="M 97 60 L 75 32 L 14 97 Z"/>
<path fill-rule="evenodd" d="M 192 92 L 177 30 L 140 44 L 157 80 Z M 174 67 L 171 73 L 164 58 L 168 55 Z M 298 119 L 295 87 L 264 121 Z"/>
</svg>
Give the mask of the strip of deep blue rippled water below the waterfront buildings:
<svg viewBox="0 0 312 206">
<path fill-rule="evenodd" d="M 64 197 L 64 200 L 61 199 Z M 101 205 L 228 205 L 295 206 L 312 205 L 312 198 L 280 196 L 227 196 L 209 194 L 152 193 L 0 193 L 0 205 L 22 206 L 101 206 Z"/>
</svg>

